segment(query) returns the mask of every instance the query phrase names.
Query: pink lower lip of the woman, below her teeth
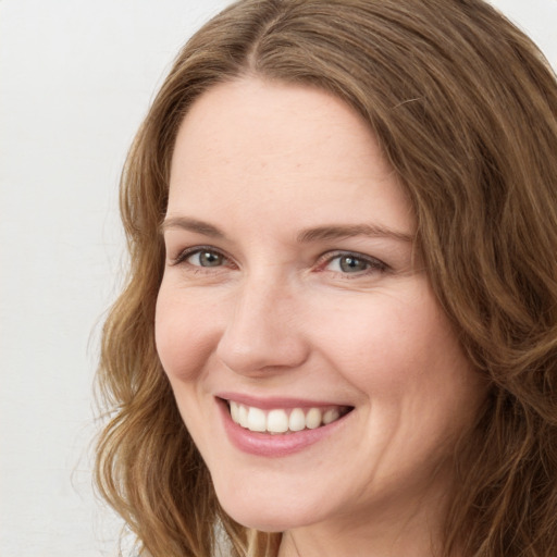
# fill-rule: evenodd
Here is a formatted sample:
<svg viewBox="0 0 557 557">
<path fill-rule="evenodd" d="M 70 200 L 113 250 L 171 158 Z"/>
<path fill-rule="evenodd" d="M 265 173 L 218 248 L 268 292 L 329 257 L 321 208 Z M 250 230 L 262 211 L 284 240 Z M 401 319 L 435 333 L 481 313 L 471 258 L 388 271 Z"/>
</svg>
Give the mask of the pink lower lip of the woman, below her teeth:
<svg viewBox="0 0 557 557">
<path fill-rule="evenodd" d="M 270 433 L 249 431 L 235 423 L 224 400 L 219 400 L 219 407 L 223 418 L 224 430 L 236 448 L 250 455 L 271 458 L 294 455 L 329 437 L 343 426 L 345 420 L 351 413 L 348 412 L 341 419 L 314 430 L 271 435 Z"/>
</svg>

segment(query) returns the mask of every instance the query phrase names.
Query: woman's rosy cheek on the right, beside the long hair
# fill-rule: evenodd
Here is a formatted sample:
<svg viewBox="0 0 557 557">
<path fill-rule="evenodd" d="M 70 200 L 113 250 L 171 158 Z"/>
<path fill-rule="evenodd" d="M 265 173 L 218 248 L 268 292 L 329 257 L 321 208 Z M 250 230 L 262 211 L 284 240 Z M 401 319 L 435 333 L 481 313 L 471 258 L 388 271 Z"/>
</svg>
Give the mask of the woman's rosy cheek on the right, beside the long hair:
<svg viewBox="0 0 557 557">
<path fill-rule="evenodd" d="M 425 284 L 377 293 L 315 321 L 327 359 L 360 392 L 396 405 L 454 398 L 471 377 L 450 324 Z"/>
</svg>

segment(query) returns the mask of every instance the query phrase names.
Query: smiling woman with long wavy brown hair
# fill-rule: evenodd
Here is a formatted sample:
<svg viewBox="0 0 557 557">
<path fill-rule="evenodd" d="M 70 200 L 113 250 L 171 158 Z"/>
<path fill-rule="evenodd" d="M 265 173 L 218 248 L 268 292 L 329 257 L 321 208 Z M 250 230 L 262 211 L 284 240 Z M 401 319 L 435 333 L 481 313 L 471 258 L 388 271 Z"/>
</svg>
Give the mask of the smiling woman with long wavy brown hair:
<svg viewBox="0 0 557 557">
<path fill-rule="evenodd" d="M 126 164 L 99 375 L 144 554 L 555 555 L 556 145 L 554 74 L 479 0 L 198 32 Z"/>
</svg>

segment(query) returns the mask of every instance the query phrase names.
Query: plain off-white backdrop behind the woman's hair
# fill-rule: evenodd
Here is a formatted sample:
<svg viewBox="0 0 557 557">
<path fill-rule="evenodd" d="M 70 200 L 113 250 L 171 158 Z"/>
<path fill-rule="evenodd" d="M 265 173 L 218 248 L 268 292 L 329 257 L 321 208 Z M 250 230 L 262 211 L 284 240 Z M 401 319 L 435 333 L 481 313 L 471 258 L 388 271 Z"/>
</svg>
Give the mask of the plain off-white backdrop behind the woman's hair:
<svg viewBox="0 0 557 557">
<path fill-rule="evenodd" d="M 92 381 L 126 150 L 225 0 L 0 0 L 0 556 L 116 554 L 91 488 Z M 557 66 L 557 0 L 497 0 Z"/>
</svg>

